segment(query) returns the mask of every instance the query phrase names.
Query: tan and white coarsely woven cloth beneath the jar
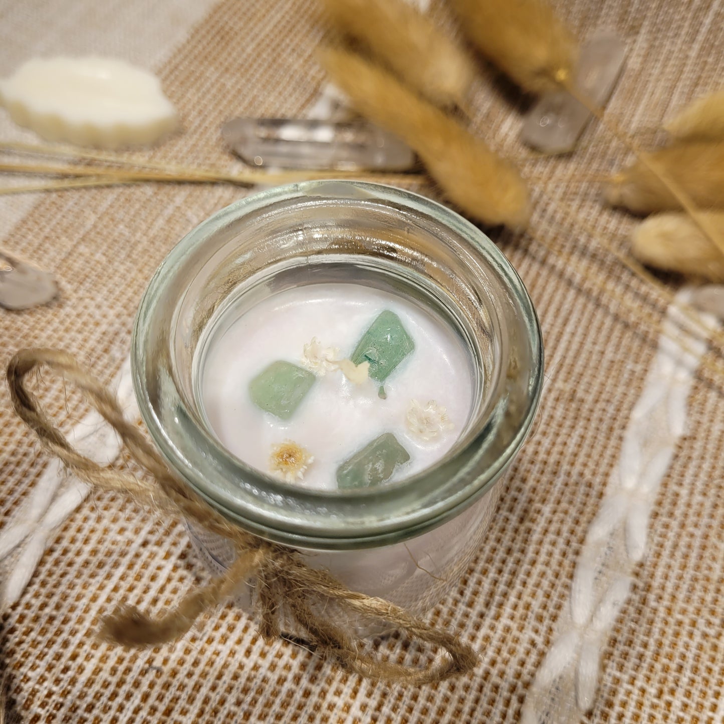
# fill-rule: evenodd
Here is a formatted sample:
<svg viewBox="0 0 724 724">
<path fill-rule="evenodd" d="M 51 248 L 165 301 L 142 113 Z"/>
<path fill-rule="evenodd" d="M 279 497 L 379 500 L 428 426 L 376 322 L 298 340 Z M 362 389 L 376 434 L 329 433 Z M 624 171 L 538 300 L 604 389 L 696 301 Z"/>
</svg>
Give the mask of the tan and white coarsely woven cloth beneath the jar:
<svg viewBox="0 0 724 724">
<path fill-rule="evenodd" d="M 610 113 L 641 138 L 652 138 L 651 129 L 689 98 L 721 84 L 724 6 L 715 0 L 563 0 L 559 6 L 584 34 L 607 27 L 626 39 L 628 64 Z M 313 60 L 323 31 L 311 0 L 4 0 L 0 28 L 4 75 L 29 56 L 62 51 L 125 56 L 159 72 L 185 134 L 154 154 L 177 161 L 227 163 L 219 143 L 224 119 L 303 114 L 323 80 Z M 476 130 L 520 156 L 525 101 L 487 71 L 478 90 Z M 4 113 L 0 123 L 4 138 L 33 138 L 14 130 Z M 613 169 L 627 157 L 597 126 L 585 143 L 572 159 L 526 165 L 550 177 L 536 191 L 531 235 L 494 232 L 539 311 L 549 379 L 541 422 L 515 464 L 487 542 L 432 613 L 439 626 L 455 626 L 482 652 L 475 673 L 423 689 L 374 686 L 292 644 L 266 647 L 246 615 L 232 608 L 203 620 L 174 646 L 125 652 L 100 644 L 98 617 L 119 600 L 159 610 L 206 573 L 194 563 L 182 526 L 99 495 L 59 531 L 4 618 L 4 666 L 23 721 L 518 720 L 654 351 L 656 330 L 631 308 L 657 318 L 663 311 L 655 295 L 571 222 L 568 204 L 621 246 L 631 224 L 602 209 L 595 187 L 565 181 L 574 172 Z M 127 353 L 152 271 L 185 232 L 242 193 L 144 185 L 2 199 L 1 244 L 52 269 L 62 295 L 32 311 L 0 311 L 0 364 L 27 345 L 56 346 L 110 380 Z M 720 390 L 710 373 L 696 379 L 689 437 L 662 487 L 638 584 L 605 651 L 591 721 L 724 720 Z M 68 425 L 83 413 L 72 392 L 64 403 L 56 390 L 54 401 Z M 7 390 L 0 393 L 0 414 L 0 507 L 12 515 L 45 460 L 12 416 Z"/>
</svg>

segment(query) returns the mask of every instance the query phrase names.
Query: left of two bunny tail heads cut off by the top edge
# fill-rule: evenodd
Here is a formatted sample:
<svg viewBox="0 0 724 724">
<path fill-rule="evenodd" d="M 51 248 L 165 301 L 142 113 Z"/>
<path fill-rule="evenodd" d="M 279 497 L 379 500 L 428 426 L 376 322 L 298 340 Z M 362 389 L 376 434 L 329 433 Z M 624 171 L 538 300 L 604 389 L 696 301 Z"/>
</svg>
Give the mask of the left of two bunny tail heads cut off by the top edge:
<svg viewBox="0 0 724 724">
<path fill-rule="evenodd" d="M 475 67 L 460 47 L 404 0 L 321 0 L 343 33 L 363 43 L 430 101 L 465 108 Z"/>
</svg>

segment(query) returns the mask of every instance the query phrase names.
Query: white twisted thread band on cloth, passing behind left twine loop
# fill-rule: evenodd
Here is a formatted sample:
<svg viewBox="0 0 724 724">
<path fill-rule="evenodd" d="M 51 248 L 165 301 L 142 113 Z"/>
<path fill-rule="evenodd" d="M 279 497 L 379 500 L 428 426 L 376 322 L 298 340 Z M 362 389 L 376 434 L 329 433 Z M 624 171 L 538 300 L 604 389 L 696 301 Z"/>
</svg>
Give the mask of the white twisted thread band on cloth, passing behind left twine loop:
<svg viewBox="0 0 724 724">
<path fill-rule="evenodd" d="M 122 364 L 115 386 L 121 408 L 127 416 L 140 418 L 133 392 L 130 359 Z M 121 451 L 121 441 L 99 413 L 91 411 L 67 434 L 67 439 L 83 455 L 101 465 L 110 465 Z M 17 602 L 33 578 L 35 568 L 48 546 L 49 538 L 88 497 L 90 487 L 68 476 L 59 460 L 51 460 L 28 494 L 25 505 L 0 531 L 0 560 L 18 550 L 0 589 L 0 611 Z"/>
</svg>

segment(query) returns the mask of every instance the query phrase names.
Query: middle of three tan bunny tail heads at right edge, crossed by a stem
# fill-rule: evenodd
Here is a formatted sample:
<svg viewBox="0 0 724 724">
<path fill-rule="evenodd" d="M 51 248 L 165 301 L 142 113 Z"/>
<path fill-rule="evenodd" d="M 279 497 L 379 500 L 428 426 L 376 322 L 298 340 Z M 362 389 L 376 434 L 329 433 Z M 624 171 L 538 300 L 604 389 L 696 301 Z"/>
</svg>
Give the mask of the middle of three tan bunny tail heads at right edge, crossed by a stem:
<svg viewBox="0 0 724 724">
<path fill-rule="evenodd" d="M 605 190 L 608 203 L 635 214 L 681 209 L 663 173 L 699 209 L 724 209 L 724 143 L 681 143 L 647 153 L 647 159 L 657 172 L 641 159 L 618 172 Z"/>
</svg>

